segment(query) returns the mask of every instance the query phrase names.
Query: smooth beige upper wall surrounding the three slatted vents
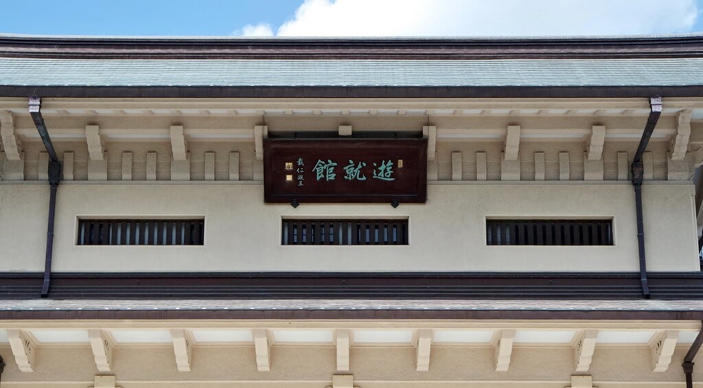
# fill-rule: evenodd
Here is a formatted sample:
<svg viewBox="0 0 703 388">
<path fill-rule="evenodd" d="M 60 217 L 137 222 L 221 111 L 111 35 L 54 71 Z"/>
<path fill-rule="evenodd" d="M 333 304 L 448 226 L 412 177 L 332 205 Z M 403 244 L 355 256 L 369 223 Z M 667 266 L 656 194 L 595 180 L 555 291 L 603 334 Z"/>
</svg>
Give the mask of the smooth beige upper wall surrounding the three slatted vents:
<svg viewBox="0 0 703 388">
<path fill-rule="evenodd" d="M 2 271 L 44 269 L 46 184 L 0 185 Z M 697 271 L 693 187 L 645 184 L 650 271 Z M 254 182 L 65 182 L 53 270 L 139 271 L 638 271 L 628 182 L 437 182 L 426 204 L 265 204 Z M 205 246 L 76 246 L 77 218 L 205 217 Z M 485 217 L 614 218 L 614 246 L 486 246 Z M 280 220 L 407 217 L 409 246 L 281 246 Z"/>
</svg>

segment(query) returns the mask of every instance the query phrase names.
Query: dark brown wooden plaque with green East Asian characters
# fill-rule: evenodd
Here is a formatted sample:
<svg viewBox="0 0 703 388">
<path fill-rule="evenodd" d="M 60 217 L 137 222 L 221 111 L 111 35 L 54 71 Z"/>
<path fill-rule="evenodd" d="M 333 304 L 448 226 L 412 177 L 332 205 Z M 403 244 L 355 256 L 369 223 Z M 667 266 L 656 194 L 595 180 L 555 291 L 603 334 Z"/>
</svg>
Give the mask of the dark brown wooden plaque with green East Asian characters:
<svg viewBox="0 0 703 388">
<path fill-rule="evenodd" d="M 427 139 L 264 140 L 264 200 L 424 203 Z"/>
</svg>

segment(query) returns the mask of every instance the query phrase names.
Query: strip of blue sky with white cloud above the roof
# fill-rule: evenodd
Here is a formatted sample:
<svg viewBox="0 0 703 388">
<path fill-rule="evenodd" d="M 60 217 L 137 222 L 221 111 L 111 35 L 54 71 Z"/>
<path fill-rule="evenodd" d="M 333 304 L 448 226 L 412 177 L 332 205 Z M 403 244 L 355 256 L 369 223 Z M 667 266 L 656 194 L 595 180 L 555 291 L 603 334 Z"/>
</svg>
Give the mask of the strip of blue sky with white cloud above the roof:
<svg viewBox="0 0 703 388">
<path fill-rule="evenodd" d="M 31 4 L 31 6 L 30 6 Z M 536 36 L 703 32 L 703 0 L 1 0 L 0 33 Z"/>
</svg>

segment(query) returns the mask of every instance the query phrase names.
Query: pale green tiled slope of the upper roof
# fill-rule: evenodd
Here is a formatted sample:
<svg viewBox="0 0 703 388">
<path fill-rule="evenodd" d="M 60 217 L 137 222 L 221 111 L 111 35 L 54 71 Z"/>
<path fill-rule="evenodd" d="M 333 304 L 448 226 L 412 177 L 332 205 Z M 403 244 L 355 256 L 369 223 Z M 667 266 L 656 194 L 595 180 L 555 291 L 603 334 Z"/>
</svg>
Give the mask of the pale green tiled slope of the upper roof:
<svg viewBox="0 0 703 388">
<path fill-rule="evenodd" d="M 699 86 L 703 58 L 146 60 L 0 58 L 1 86 Z"/>
</svg>

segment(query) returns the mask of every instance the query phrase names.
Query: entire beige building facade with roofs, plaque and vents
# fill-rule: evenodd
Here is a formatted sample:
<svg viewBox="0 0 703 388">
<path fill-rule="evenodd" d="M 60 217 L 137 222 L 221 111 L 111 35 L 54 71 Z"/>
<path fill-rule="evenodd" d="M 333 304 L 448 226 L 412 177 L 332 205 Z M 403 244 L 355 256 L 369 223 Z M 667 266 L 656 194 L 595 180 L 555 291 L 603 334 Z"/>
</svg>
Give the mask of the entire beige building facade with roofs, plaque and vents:
<svg viewBox="0 0 703 388">
<path fill-rule="evenodd" d="M 2 36 L 0 387 L 703 387 L 702 53 Z"/>
</svg>

